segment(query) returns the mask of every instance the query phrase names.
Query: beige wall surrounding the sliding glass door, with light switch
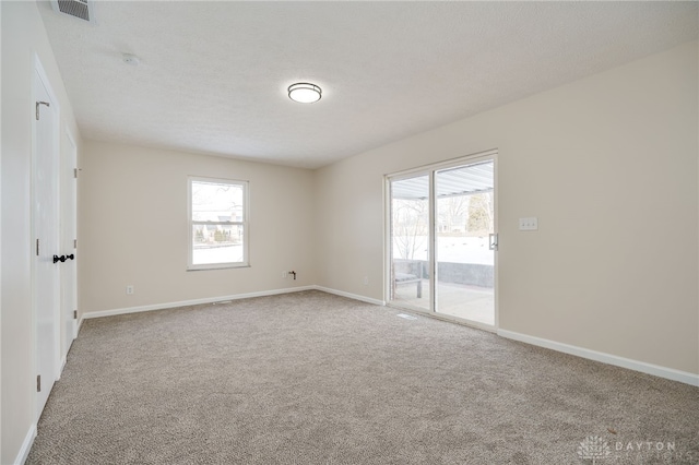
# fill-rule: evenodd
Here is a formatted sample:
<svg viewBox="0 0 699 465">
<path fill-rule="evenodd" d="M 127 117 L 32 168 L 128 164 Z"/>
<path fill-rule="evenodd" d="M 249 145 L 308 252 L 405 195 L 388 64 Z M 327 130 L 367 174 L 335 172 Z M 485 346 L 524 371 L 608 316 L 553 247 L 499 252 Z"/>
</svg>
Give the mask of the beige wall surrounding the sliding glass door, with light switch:
<svg viewBox="0 0 699 465">
<path fill-rule="evenodd" d="M 320 169 L 318 284 L 383 299 L 383 175 L 497 148 L 500 327 L 699 373 L 697 83 L 690 43 Z"/>
</svg>

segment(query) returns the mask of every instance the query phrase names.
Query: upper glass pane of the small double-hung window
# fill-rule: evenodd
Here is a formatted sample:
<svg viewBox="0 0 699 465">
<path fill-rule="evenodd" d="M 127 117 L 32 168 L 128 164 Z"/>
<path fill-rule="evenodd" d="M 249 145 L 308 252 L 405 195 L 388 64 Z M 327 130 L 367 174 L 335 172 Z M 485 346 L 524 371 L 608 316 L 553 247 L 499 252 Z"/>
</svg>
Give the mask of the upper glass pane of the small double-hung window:
<svg viewBox="0 0 699 465">
<path fill-rule="evenodd" d="M 191 219 L 194 222 L 245 222 L 242 200 L 241 184 L 192 181 Z"/>
</svg>

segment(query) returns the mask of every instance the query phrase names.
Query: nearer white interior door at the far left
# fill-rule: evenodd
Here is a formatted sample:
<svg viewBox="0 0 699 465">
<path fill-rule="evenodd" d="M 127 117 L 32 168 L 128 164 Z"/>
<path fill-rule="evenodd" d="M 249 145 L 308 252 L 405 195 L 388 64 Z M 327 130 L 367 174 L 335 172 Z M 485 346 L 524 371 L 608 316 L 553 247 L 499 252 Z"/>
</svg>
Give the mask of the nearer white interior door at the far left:
<svg viewBox="0 0 699 465">
<path fill-rule="evenodd" d="M 37 374 L 36 419 L 42 415 L 60 369 L 59 358 L 59 189 L 58 111 L 40 64 L 36 65 L 33 90 L 33 312 Z"/>
</svg>

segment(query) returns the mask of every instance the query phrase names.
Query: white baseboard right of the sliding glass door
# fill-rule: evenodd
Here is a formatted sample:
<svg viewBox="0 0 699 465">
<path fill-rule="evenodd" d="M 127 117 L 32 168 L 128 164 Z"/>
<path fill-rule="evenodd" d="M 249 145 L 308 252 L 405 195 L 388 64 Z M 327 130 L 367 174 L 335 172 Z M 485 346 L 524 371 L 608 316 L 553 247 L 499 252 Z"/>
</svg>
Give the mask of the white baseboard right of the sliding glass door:
<svg viewBox="0 0 699 465">
<path fill-rule="evenodd" d="M 629 370 L 636 370 L 642 373 L 653 374 L 655 377 L 679 381 L 694 386 L 699 386 L 699 374 L 694 374 L 687 371 L 675 370 L 673 368 L 661 367 L 659 365 L 647 363 L 644 361 L 631 360 L 629 358 L 618 357 L 612 354 L 605 354 L 582 347 L 571 346 L 568 344 L 557 343 L 555 341 L 544 339 L 541 337 L 529 336 L 526 334 L 516 333 L 513 331 L 498 330 L 497 334 L 499 336 L 507 337 L 508 339 L 519 341 L 522 343 L 562 351 L 564 354 L 601 361 L 603 363 L 613 365 L 615 367 L 628 368 Z"/>
</svg>

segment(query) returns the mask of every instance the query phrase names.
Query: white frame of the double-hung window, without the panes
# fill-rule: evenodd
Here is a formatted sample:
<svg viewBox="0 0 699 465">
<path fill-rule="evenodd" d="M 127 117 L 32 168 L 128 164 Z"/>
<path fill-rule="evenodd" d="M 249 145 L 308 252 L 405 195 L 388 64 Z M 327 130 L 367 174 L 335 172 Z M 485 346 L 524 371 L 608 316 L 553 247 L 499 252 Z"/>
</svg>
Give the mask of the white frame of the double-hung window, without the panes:
<svg viewBox="0 0 699 465">
<path fill-rule="evenodd" d="M 242 187 L 242 220 L 241 222 L 194 222 L 192 219 L 192 183 L 194 182 L 211 182 L 222 183 L 230 186 Z M 223 179 L 223 178 L 208 178 L 200 176 L 187 177 L 187 227 L 188 227 L 188 246 L 187 246 L 187 271 L 200 271 L 200 270 L 222 270 L 222 269 L 238 269 L 250 266 L 250 259 L 248 251 L 250 250 L 250 183 L 249 181 L 241 181 L 236 179 Z M 222 226 L 241 226 L 242 227 L 242 261 L 241 262 L 227 262 L 227 263 L 193 263 L 194 253 L 194 238 L 193 230 L 194 225 L 222 225 Z"/>
</svg>

